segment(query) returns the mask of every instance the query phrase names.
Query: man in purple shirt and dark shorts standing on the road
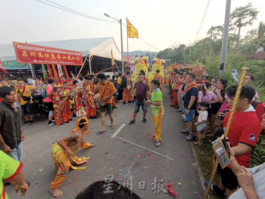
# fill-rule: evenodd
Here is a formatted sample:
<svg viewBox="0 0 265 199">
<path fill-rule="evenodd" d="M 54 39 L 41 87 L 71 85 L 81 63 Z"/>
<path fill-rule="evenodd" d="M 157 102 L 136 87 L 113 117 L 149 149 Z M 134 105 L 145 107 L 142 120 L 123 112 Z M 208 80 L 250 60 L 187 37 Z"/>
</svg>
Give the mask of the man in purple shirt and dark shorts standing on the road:
<svg viewBox="0 0 265 199">
<path fill-rule="evenodd" d="M 143 122 L 147 123 L 145 115 L 146 112 L 148 112 L 148 107 L 145 104 L 144 99 L 149 98 L 149 87 L 148 84 L 144 81 L 144 75 L 142 73 L 139 73 L 138 82 L 135 82 L 132 93 L 134 93 L 135 89 L 136 89 L 136 99 L 134 102 L 133 120 L 129 122 L 129 125 L 135 123 L 135 118 L 137 113 L 139 112 L 140 106 L 142 106 L 143 109 Z"/>
</svg>

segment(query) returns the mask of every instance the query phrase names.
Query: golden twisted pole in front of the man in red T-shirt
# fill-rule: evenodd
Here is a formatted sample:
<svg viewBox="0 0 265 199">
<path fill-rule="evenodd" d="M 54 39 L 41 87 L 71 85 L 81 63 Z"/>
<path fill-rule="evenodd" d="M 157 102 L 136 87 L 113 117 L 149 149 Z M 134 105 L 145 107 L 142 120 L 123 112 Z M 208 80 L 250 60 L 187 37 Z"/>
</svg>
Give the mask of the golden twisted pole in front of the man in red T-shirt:
<svg viewBox="0 0 265 199">
<path fill-rule="evenodd" d="M 241 93 L 241 90 L 242 90 L 242 86 L 243 86 L 243 82 L 244 82 L 244 79 L 245 79 L 245 76 L 246 76 L 246 73 L 247 73 L 248 70 L 249 70 L 248 67 L 243 67 L 242 68 L 242 74 L 241 74 L 241 78 L 240 78 L 240 81 L 238 83 L 238 87 L 237 87 L 237 90 L 236 90 L 234 103 L 232 105 L 232 108 L 231 108 L 231 111 L 230 111 L 230 115 L 229 115 L 229 118 L 228 118 L 228 121 L 227 121 L 226 129 L 225 129 L 225 132 L 224 132 L 225 136 L 227 136 L 227 134 L 229 132 L 230 124 L 232 122 L 233 115 L 234 115 L 234 112 L 236 110 L 236 104 L 237 104 L 238 98 L 240 96 L 240 93 Z M 218 166 L 218 160 L 216 159 L 215 160 L 215 164 L 213 166 L 213 171 L 212 171 L 212 174 L 211 174 L 211 177 L 210 177 L 210 180 L 209 180 L 209 185 L 207 187 L 204 199 L 208 198 L 208 195 L 209 195 L 209 192 L 210 192 L 210 189 L 211 189 L 211 185 L 213 183 L 213 179 L 214 179 L 214 176 L 215 176 L 215 173 L 216 173 L 217 166 Z"/>
</svg>

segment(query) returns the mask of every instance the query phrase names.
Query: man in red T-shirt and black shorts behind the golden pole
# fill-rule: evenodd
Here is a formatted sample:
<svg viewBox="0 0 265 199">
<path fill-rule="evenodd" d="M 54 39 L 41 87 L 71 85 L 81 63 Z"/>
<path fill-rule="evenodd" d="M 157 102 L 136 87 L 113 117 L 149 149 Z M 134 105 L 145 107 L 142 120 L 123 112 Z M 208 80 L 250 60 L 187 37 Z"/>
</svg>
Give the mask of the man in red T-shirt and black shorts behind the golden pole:
<svg viewBox="0 0 265 199">
<path fill-rule="evenodd" d="M 234 103 L 236 90 L 237 85 L 232 85 L 226 89 L 230 108 L 232 108 L 232 104 Z M 249 164 L 251 149 L 255 146 L 262 129 L 260 120 L 250 105 L 254 96 L 255 89 L 250 85 L 243 85 L 227 134 L 236 161 L 240 166 L 244 167 L 247 167 Z M 228 112 L 223 121 L 224 130 L 228 123 L 229 114 L 230 112 Z M 229 198 L 238 189 L 237 177 L 233 173 L 230 165 L 224 169 L 218 165 L 217 171 L 220 172 L 219 185 L 212 185 L 211 189 L 220 196 L 224 196 L 224 191 L 226 191 L 227 198 Z"/>
</svg>

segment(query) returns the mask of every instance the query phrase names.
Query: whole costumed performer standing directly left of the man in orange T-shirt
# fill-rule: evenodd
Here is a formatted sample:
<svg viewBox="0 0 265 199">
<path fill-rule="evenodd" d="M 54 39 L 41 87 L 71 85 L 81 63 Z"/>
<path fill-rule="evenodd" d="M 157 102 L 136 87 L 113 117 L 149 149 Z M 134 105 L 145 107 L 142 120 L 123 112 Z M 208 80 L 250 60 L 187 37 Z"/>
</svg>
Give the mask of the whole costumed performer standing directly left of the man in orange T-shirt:
<svg viewBox="0 0 265 199">
<path fill-rule="evenodd" d="M 85 91 L 85 99 L 86 99 L 86 117 L 90 119 L 96 119 L 96 104 L 94 102 L 93 96 L 94 93 L 91 91 L 90 88 L 90 76 L 85 76 L 85 83 L 84 83 L 84 91 Z M 91 116 L 90 116 L 91 114 Z"/>
</svg>

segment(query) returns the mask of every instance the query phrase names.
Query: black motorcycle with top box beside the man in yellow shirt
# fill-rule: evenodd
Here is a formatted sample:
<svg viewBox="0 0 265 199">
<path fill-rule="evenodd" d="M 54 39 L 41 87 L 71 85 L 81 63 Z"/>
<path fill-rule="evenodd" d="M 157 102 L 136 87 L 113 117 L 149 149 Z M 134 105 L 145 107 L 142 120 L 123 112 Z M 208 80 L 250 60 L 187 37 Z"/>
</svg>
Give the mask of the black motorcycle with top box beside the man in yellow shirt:
<svg viewBox="0 0 265 199">
<path fill-rule="evenodd" d="M 37 117 L 37 114 L 45 115 L 46 117 L 49 117 L 49 110 L 47 106 L 44 105 L 41 94 L 42 94 L 42 89 L 37 89 L 31 93 L 31 97 L 33 101 L 32 109 L 33 109 L 33 114 L 35 115 L 35 118 Z"/>
</svg>

